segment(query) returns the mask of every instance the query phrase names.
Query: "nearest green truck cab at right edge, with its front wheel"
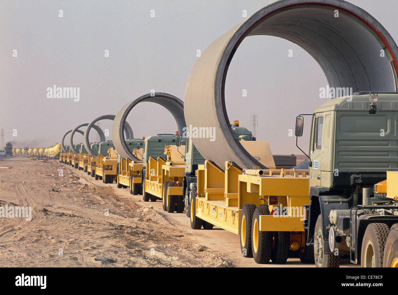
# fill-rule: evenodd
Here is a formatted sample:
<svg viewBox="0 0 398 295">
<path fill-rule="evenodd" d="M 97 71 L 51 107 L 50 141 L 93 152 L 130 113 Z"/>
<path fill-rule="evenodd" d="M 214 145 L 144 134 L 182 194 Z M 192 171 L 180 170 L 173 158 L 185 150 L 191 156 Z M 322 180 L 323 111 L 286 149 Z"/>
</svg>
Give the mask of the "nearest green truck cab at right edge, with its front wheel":
<svg viewBox="0 0 398 295">
<path fill-rule="evenodd" d="M 398 222 L 398 210 L 390 208 L 396 202 L 373 193 L 386 171 L 398 170 L 398 93 L 359 92 L 331 99 L 310 116 L 307 245 L 314 245 L 318 267 L 338 267 L 342 255 L 361 263 L 367 226 Z M 298 116 L 296 136 L 302 136 L 303 123 L 303 115 Z"/>
</svg>

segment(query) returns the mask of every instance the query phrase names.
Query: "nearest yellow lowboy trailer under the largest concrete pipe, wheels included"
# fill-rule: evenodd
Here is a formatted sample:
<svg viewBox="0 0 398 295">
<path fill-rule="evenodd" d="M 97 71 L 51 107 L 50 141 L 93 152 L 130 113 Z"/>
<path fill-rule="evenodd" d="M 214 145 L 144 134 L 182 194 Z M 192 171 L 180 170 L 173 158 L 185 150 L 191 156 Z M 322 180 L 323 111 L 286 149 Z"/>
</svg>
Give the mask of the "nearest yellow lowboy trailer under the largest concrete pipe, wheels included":
<svg viewBox="0 0 398 295">
<path fill-rule="evenodd" d="M 313 262 L 303 227 L 308 185 L 308 170 L 243 171 L 230 161 L 222 170 L 205 161 L 197 170 L 191 227 L 216 225 L 239 234 L 243 256 L 257 263 L 285 263 L 289 250 L 298 251 L 302 262 Z"/>
</svg>

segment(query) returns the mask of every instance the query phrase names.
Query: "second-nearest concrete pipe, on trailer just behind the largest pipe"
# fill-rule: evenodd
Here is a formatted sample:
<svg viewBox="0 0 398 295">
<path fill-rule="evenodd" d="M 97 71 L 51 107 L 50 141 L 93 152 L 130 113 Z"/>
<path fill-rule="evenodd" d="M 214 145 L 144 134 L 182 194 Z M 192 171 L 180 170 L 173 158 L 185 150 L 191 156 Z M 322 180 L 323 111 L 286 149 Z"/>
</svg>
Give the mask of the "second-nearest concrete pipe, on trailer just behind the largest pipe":
<svg viewBox="0 0 398 295">
<path fill-rule="evenodd" d="M 129 158 L 132 160 L 139 160 L 135 157 L 126 145 L 125 138 L 123 136 L 123 129 L 126 123 L 126 118 L 130 111 L 137 104 L 142 102 L 157 103 L 162 107 L 165 107 L 174 117 L 177 122 L 177 128 L 179 134 L 182 134 L 183 128 L 186 126 L 184 118 L 184 103 L 181 99 L 175 97 L 174 95 L 162 92 L 148 93 L 142 95 L 141 97 L 127 103 L 120 111 L 117 113 L 112 124 L 112 141 L 113 146 L 117 150 L 117 153 L 122 158 Z"/>
</svg>

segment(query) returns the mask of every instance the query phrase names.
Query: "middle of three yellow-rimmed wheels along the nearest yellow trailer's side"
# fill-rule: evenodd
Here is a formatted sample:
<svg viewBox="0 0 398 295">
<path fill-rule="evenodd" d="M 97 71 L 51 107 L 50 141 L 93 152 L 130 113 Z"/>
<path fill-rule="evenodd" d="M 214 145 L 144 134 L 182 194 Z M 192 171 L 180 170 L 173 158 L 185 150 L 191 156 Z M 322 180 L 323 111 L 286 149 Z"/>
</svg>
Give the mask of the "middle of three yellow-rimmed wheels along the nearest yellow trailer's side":
<svg viewBox="0 0 398 295">
<path fill-rule="evenodd" d="M 252 252 L 252 219 L 256 205 L 244 204 L 240 214 L 240 252 L 243 257 L 253 257 Z"/>
</svg>

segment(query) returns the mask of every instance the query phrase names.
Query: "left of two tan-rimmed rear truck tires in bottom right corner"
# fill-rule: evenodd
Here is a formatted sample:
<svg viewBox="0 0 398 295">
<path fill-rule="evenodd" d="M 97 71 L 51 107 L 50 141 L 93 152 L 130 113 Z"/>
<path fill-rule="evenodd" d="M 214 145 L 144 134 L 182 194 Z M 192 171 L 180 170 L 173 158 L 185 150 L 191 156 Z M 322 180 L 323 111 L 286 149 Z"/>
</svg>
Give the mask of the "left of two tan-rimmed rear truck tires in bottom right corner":
<svg viewBox="0 0 398 295">
<path fill-rule="evenodd" d="M 385 223 L 371 223 L 366 227 L 361 247 L 362 267 L 383 267 L 388 233 L 390 228 Z"/>
</svg>

